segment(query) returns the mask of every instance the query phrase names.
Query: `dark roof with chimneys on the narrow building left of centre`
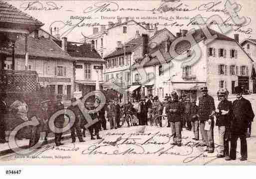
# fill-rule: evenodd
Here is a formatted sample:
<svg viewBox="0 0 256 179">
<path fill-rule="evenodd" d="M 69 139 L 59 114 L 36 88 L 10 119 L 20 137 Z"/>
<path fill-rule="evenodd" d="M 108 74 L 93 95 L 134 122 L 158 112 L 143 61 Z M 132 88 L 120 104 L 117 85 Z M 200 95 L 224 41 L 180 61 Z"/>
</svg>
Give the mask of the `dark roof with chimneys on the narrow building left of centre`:
<svg viewBox="0 0 256 179">
<path fill-rule="evenodd" d="M 91 50 L 91 44 L 84 43 L 82 45 L 76 45 L 68 43 L 67 52 L 73 57 L 90 57 L 90 58 L 101 58 L 99 53 L 95 50 Z"/>
</svg>

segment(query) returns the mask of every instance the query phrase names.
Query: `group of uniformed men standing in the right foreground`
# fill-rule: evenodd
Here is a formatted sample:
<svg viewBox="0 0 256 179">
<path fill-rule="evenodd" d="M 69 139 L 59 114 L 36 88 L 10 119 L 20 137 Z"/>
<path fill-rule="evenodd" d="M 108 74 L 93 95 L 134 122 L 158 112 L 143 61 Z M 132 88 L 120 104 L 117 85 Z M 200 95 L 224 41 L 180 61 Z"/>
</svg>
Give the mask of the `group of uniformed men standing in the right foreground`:
<svg viewBox="0 0 256 179">
<path fill-rule="evenodd" d="M 235 87 L 237 99 L 232 103 L 228 100 L 228 91 L 221 91 L 218 95 L 220 103 L 215 108 L 214 98 L 208 94 L 207 87 L 201 88 L 202 97 L 199 105 L 196 101 L 192 104 L 181 102 L 176 92 L 171 94 L 172 100 L 167 105 L 165 112 L 172 130 L 173 145 L 182 146 L 182 127 L 184 118 L 187 119 L 187 129 L 193 129 L 193 140 L 199 140 L 199 131 L 202 136 L 201 146 L 207 146 L 204 150 L 214 153 L 214 126 L 218 127 L 219 133 L 219 155 L 217 158 L 225 160 L 236 160 L 237 140 L 241 140 L 241 161 L 247 160 L 248 129 L 251 128 L 255 117 L 250 101 L 243 97 L 243 88 Z M 216 124 L 214 121 L 216 116 Z M 251 130 L 251 129 L 250 129 Z M 230 147 L 229 142 L 231 141 Z"/>
</svg>

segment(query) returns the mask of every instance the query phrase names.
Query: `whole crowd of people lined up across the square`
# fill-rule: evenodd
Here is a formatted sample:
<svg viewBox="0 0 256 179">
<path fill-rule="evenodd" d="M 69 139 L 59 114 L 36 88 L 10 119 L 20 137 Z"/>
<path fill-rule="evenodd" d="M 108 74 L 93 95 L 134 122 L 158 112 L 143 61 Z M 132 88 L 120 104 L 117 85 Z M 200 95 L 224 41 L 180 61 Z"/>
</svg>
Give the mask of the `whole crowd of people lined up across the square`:
<svg viewBox="0 0 256 179">
<path fill-rule="evenodd" d="M 196 100 L 191 100 L 190 97 L 180 98 L 176 92 L 172 92 L 171 96 L 166 96 L 164 103 L 161 103 L 157 96 L 145 96 L 139 99 L 134 98 L 127 104 L 120 106 L 118 98 L 109 100 L 102 108 L 97 109 L 100 105 L 99 98 L 88 98 L 84 102 L 85 108 L 92 120 L 97 120 L 96 123 L 89 126 L 87 129 L 90 134 L 90 139 L 102 139 L 99 136 L 100 130 L 107 130 L 107 121 L 109 121 L 110 129 L 120 128 L 120 119 L 126 115 L 131 115 L 131 121 L 126 119 L 128 127 L 137 125 L 150 125 L 151 117 L 157 115 L 166 116 L 168 126 L 171 128 L 173 135 L 172 145 L 182 146 L 182 131 L 183 128 L 188 131 L 193 131 L 193 140 L 199 141 L 199 134 L 202 137 L 201 146 L 206 146 L 205 152 L 213 153 L 215 150 L 214 143 L 214 126 L 218 127 L 219 133 L 219 155 L 217 158 L 226 160 L 236 160 L 237 140 L 241 140 L 241 160 L 247 160 L 247 141 L 246 138 L 251 135 L 251 125 L 255 117 L 250 101 L 243 97 L 243 89 L 240 86 L 235 87 L 237 99 L 232 103 L 228 100 L 229 92 L 227 90 L 218 92 L 220 103 L 215 107 L 214 98 L 208 94 L 207 87 L 201 88 L 202 97 L 199 98 L 197 105 Z M 23 121 L 28 121 L 27 111 L 28 106 L 25 101 L 18 99 L 6 107 L 4 99 L 6 94 L 0 95 L 0 143 L 5 143 L 3 114 L 7 112 L 15 113 L 17 118 Z M 79 142 L 85 142 L 85 127 L 87 120 L 78 107 L 80 99 L 72 98 L 71 105 L 67 109 L 75 114 L 75 121 L 70 128 L 72 143 L 76 142 L 78 137 Z M 81 102 L 81 101 L 80 101 Z M 61 96 L 56 97 L 56 101 L 44 100 L 40 102 L 40 107 L 36 117 L 40 125 L 33 128 L 35 131 L 35 139 L 39 140 L 41 133 L 45 132 L 44 140 L 47 142 L 49 133 L 48 120 L 51 115 L 59 110 L 64 110 L 65 107 L 61 103 Z M 97 110 L 96 110 L 97 109 Z M 57 116 L 54 121 L 56 128 L 63 128 L 65 114 Z M 216 124 L 214 117 L 216 118 Z M 160 120 L 162 127 L 162 120 Z M 55 132 L 56 146 L 63 145 L 61 143 L 62 133 Z M 35 141 L 36 141 L 35 140 Z M 231 142 L 231 144 L 229 144 Z"/>
</svg>

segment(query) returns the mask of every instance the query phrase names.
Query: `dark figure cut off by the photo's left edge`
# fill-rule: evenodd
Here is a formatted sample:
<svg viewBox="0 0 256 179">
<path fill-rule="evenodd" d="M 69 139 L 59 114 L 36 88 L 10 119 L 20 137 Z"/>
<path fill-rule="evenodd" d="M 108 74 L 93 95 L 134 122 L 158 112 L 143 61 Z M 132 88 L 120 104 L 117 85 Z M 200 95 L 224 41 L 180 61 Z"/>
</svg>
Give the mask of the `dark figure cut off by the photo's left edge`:
<svg viewBox="0 0 256 179">
<path fill-rule="evenodd" d="M 5 140 L 5 125 L 4 125 L 4 114 L 7 113 L 6 102 L 4 101 L 6 98 L 6 93 L 0 93 L 0 144 L 4 144 Z"/>
</svg>

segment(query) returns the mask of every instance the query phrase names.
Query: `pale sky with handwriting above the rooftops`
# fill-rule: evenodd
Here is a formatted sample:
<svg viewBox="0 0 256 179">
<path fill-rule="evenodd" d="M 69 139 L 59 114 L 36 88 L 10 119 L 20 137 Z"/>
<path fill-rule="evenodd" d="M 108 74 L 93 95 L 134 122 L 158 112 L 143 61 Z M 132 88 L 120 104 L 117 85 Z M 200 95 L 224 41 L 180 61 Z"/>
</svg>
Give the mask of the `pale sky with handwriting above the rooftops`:
<svg viewBox="0 0 256 179">
<path fill-rule="evenodd" d="M 108 21 L 117 21 L 117 16 L 134 18 L 137 22 L 159 23 L 158 29 L 167 28 L 174 35 L 180 29 L 190 30 L 199 28 L 198 25 L 191 25 L 190 20 L 201 15 L 208 19 L 213 15 L 219 15 L 223 21 L 230 15 L 223 12 L 226 0 L 118 0 L 118 1 L 94 1 L 94 0 L 4 0 L 23 12 L 33 16 L 44 23 L 42 28 L 49 31 L 50 27 L 59 27 L 62 36 L 66 36 L 69 41 L 79 41 L 83 38 L 81 32 L 88 36 L 92 34 L 92 26 L 88 24 L 108 24 Z M 256 0 L 230 0 L 231 3 L 238 4 L 237 14 L 245 17 L 245 25 L 240 31 L 235 31 L 233 27 L 227 36 L 234 37 L 235 33 L 240 34 L 240 40 L 244 38 L 256 38 Z M 166 11 L 167 8 L 159 8 L 161 4 L 172 7 L 173 11 Z M 99 10 L 99 6 L 109 4 L 105 9 Z M 164 6 L 163 5 L 163 6 Z M 234 4 L 235 5 L 235 4 Z M 152 11 L 152 9 L 164 9 L 165 12 Z M 179 8 L 187 8 L 190 11 L 179 11 Z M 98 9 L 98 11 L 97 11 Z M 137 9 L 137 10 L 134 10 Z M 140 10 L 138 10 L 140 9 Z M 222 11 L 221 11 L 222 10 Z M 79 25 L 75 25 L 81 20 L 71 19 L 71 16 L 85 18 Z M 102 19 L 104 16 L 104 19 Z M 177 16 L 180 19 L 177 19 Z M 153 19 L 148 19 L 148 17 Z M 113 19 L 114 18 L 114 19 Z M 124 19 L 122 19 L 124 21 Z M 83 25 L 81 25 L 84 23 Z M 165 24 L 168 25 L 165 25 Z M 226 23 L 233 23 L 232 19 Z M 177 25 L 177 26 L 176 26 Z M 74 27 L 74 28 L 72 28 Z M 95 26 L 97 27 L 97 26 Z M 98 26 L 99 27 L 99 26 Z M 70 30 L 72 28 L 72 30 Z M 99 27 L 100 28 L 100 27 Z M 218 30 L 217 25 L 211 28 Z M 66 33 L 64 33 L 66 31 Z M 218 30 L 219 31 L 219 30 Z"/>
</svg>

